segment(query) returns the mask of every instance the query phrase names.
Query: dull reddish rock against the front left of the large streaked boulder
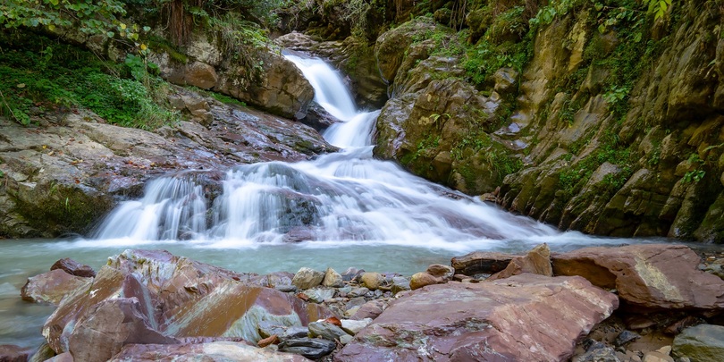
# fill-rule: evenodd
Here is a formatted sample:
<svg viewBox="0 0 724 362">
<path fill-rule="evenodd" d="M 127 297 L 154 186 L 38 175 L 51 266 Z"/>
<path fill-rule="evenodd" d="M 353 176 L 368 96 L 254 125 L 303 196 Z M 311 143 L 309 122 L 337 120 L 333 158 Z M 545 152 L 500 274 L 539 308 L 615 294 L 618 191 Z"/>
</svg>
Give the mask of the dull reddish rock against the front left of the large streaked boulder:
<svg viewBox="0 0 724 362">
<path fill-rule="evenodd" d="M 73 327 L 68 350 L 73 359 L 103 362 L 126 344 L 176 344 L 179 341 L 157 332 L 141 310 L 139 299 L 104 300 L 88 309 Z"/>
</svg>

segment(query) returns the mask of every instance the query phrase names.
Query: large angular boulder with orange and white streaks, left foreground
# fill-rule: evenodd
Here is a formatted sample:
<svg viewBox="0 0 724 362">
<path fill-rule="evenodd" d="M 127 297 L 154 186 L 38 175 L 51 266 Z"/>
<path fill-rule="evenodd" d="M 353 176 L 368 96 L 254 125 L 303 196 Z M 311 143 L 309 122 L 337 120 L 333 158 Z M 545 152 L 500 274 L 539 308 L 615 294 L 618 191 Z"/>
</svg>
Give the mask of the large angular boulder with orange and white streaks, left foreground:
<svg viewBox="0 0 724 362">
<path fill-rule="evenodd" d="M 43 335 L 56 353 L 100 361 L 112 356 L 106 349 L 118 352 L 130 343 L 193 337 L 256 343 L 262 321 L 306 325 L 333 316 L 325 307 L 253 285 L 253 279 L 165 251 L 126 250 L 109 259 L 92 287 L 63 299 Z M 89 352 L 96 349 L 103 355 Z"/>
</svg>

